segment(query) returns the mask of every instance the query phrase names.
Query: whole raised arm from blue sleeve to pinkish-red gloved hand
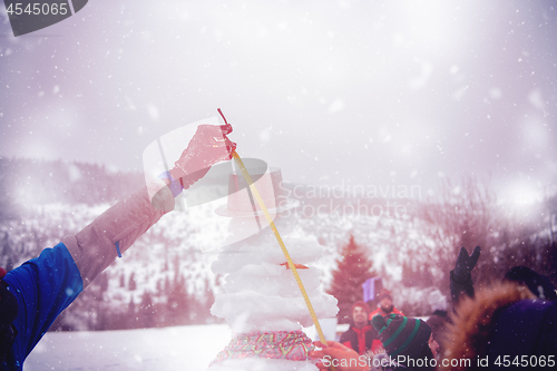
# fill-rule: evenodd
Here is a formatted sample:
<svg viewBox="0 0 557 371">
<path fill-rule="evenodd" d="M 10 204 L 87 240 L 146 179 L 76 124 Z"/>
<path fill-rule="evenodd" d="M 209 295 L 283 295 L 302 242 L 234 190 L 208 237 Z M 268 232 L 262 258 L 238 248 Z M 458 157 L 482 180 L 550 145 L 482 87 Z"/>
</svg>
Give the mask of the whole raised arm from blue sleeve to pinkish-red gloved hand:
<svg viewBox="0 0 557 371">
<path fill-rule="evenodd" d="M 231 159 L 231 125 L 201 125 L 174 168 L 117 203 L 76 235 L 4 274 L 0 272 L 0 370 L 23 361 L 56 318 L 117 256 L 166 213 L 174 197 L 212 165 Z"/>
</svg>

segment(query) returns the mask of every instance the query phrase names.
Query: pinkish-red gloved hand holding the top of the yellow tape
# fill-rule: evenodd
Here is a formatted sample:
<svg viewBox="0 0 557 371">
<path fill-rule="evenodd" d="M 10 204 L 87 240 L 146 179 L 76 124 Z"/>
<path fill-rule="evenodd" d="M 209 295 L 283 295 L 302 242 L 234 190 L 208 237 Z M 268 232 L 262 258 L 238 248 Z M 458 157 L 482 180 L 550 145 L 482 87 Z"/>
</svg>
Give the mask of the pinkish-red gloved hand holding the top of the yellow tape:
<svg viewBox="0 0 557 371">
<path fill-rule="evenodd" d="M 174 179 L 187 189 L 201 179 L 211 166 L 218 162 L 231 159 L 236 144 L 226 135 L 232 133 L 232 125 L 199 125 L 194 137 L 182 153 L 182 156 L 170 169 Z"/>
</svg>

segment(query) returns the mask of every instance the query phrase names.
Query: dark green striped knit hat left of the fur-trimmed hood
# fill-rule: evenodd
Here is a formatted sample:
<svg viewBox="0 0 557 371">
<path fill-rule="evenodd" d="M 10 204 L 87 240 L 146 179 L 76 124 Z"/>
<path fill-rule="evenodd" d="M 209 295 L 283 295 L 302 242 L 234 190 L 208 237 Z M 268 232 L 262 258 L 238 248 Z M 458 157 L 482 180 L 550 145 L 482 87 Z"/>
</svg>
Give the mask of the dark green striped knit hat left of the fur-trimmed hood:
<svg viewBox="0 0 557 371">
<path fill-rule="evenodd" d="M 390 357 L 420 358 L 431 335 L 431 328 L 426 322 L 394 313 L 384 318 L 375 315 L 371 324 L 379 331 L 379 339 Z"/>
</svg>

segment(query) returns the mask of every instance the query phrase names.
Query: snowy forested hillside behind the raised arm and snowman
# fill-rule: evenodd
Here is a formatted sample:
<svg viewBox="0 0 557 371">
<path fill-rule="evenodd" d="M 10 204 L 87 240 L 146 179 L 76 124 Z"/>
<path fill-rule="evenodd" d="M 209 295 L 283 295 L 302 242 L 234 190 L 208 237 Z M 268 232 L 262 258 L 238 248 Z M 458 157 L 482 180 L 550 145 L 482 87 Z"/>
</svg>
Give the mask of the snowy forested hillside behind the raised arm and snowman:
<svg viewBox="0 0 557 371">
<path fill-rule="evenodd" d="M 79 232 L 144 183 L 141 174 L 87 163 L 2 158 L 0 167 L 0 266 L 7 270 Z M 413 197 L 286 187 L 301 201 L 292 234 L 314 236 L 325 248 L 319 265 L 325 291 L 339 300 L 341 323 L 372 276 L 382 277 L 407 315 L 429 315 L 433 292 L 450 299 L 448 274 L 461 246 L 482 247 L 473 271 L 478 285 L 500 280 L 515 265 L 557 284 L 555 193 L 517 206 L 498 201 L 488 179 L 471 176 L 444 178 L 437 192 Z M 397 207 L 384 212 L 389 204 Z M 211 271 L 216 254 L 202 250 L 225 231 L 199 232 L 206 213 L 212 211 L 196 207 L 165 215 L 51 331 L 221 323 L 209 309 L 224 279 Z"/>
</svg>

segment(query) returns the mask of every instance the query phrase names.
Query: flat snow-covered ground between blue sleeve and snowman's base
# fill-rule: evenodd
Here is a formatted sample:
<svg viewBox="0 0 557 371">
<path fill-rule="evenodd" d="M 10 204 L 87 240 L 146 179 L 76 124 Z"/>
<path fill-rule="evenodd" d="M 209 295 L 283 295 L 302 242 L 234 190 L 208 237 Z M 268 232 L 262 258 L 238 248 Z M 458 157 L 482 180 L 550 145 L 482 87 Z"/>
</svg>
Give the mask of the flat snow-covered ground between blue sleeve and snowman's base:
<svg viewBox="0 0 557 371">
<path fill-rule="evenodd" d="M 226 324 L 48 332 L 25 371 L 202 371 L 231 340 Z"/>
</svg>

